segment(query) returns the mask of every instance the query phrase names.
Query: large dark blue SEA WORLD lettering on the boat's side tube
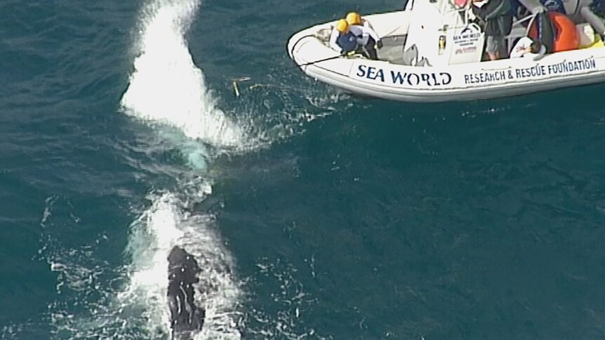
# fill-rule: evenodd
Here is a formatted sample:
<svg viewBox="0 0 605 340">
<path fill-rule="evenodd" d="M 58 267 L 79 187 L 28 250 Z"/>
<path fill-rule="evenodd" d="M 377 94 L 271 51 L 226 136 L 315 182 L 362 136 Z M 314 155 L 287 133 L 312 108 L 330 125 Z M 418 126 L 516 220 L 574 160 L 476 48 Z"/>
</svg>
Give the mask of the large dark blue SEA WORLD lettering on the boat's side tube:
<svg viewBox="0 0 605 340">
<path fill-rule="evenodd" d="M 404 86 L 444 86 L 452 81 L 452 77 L 447 72 L 394 72 L 388 73 L 380 67 L 368 67 L 364 64 L 357 67 L 357 74 L 360 78 L 366 78 L 382 83 L 392 83 Z"/>
</svg>

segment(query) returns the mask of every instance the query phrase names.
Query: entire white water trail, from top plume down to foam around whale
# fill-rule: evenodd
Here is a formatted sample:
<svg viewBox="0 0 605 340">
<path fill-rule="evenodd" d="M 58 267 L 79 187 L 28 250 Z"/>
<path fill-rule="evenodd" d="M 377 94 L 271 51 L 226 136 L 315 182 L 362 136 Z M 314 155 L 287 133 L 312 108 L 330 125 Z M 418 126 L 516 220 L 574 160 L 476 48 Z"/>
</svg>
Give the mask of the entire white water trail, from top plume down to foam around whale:
<svg viewBox="0 0 605 340">
<path fill-rule="evenodd" d="M 216 107 L 187 48 L 185 32 L 198 7 L 194 0 L 157 0 L 145 8 L 140 56 L 121 105 L 127 114 L 150 124 L 176 128 L 180 133 L 161 129 L 161 135 L 177 144 L 194 168 L 204 169 L 210 156 L 198 141 L 222 151 L 241 149 L 247 137 Z M 239 339 L 236 309 L 241 293 L 232 259 L 213 230 L 213 217 L 190 209 L 210 193 L 206 179 L 181 183 L 178 192 L 154 196 L 151 207 L 132 226 L 129 284 L 118 300 L 145 306 L 149 334 L 158 328 L 168 331 L 167 257 L 173 245 L 181 245 L 202 269 L 196 299 L 206 308 L 206 321 L 196 339 Z"/>
</svg>

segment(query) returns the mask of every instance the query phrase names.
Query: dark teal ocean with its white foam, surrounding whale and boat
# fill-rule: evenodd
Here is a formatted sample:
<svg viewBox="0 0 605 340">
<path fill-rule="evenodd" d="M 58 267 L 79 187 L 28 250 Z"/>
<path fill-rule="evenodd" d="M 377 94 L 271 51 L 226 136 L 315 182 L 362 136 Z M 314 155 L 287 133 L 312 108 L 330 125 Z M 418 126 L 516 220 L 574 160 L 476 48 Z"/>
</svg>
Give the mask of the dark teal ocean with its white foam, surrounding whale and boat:
<svg viewBox="0 0 605 340">
<path fill-rule="evenodd" d="M 168 339 L 173 245 L 196 339 L 604 339 L 604 86 L 406 104 L 287 58 L 402 6 L 3 1 L 0 339 Z"/>
</svg>

